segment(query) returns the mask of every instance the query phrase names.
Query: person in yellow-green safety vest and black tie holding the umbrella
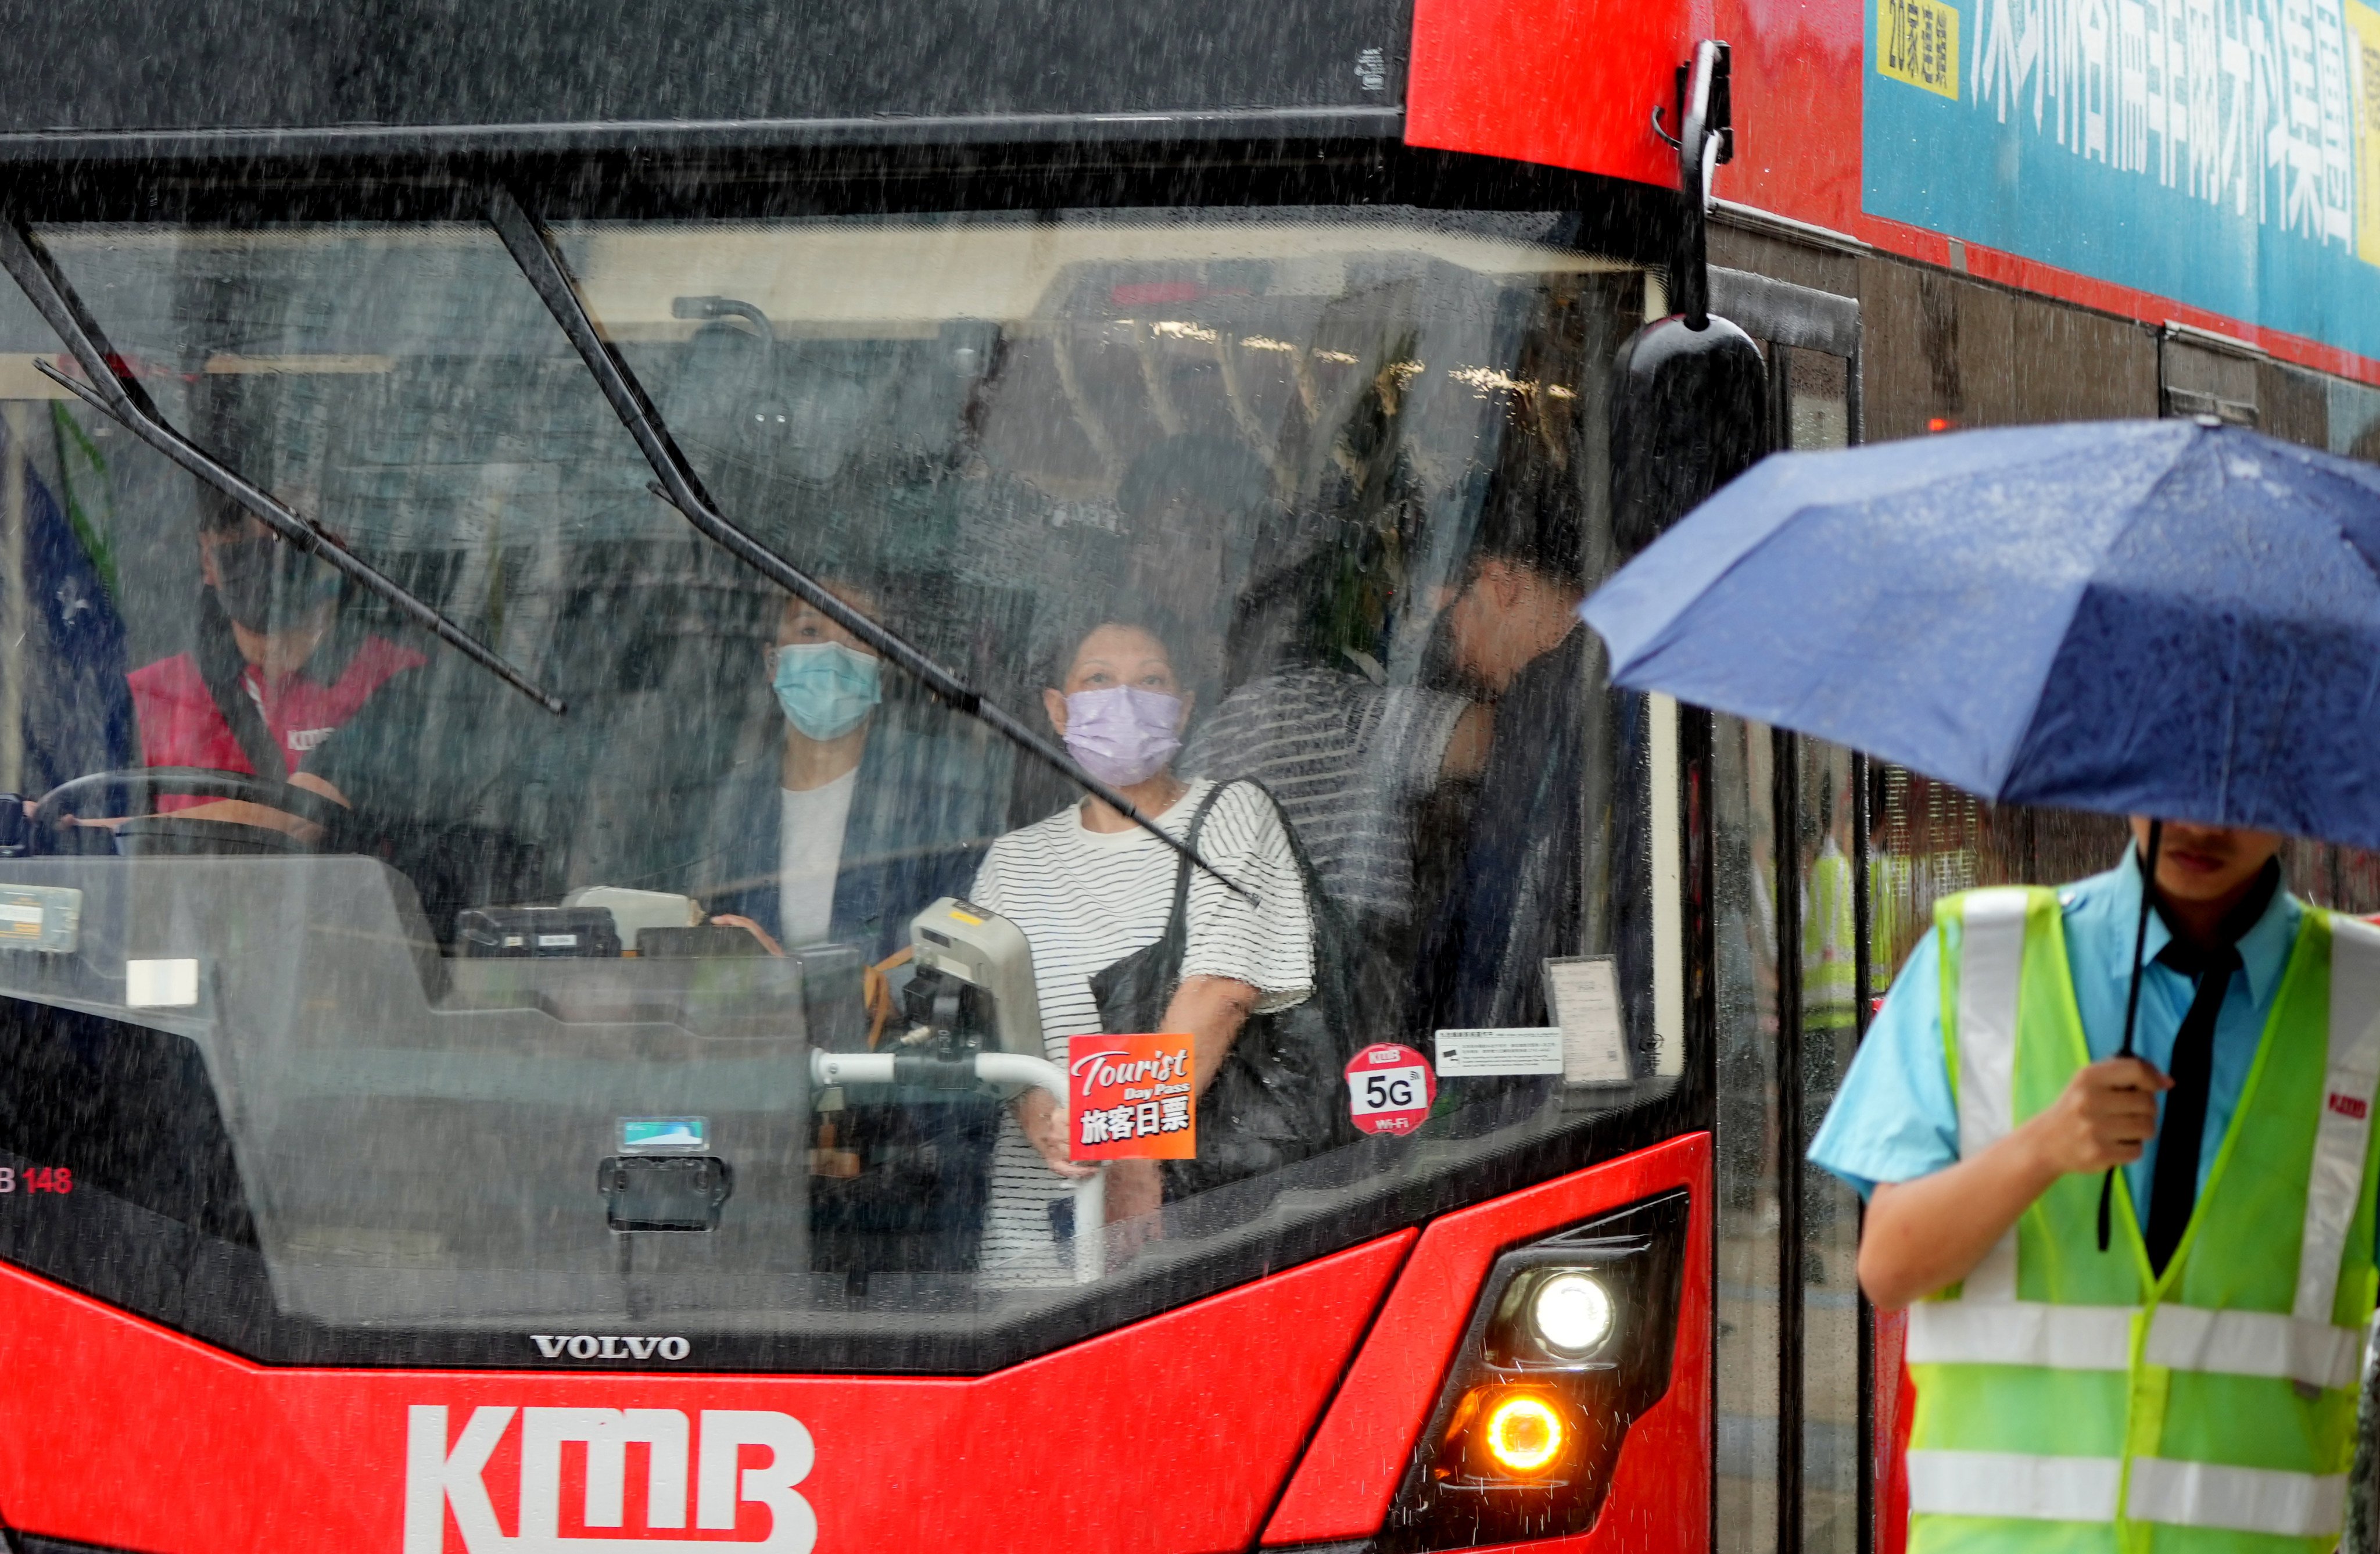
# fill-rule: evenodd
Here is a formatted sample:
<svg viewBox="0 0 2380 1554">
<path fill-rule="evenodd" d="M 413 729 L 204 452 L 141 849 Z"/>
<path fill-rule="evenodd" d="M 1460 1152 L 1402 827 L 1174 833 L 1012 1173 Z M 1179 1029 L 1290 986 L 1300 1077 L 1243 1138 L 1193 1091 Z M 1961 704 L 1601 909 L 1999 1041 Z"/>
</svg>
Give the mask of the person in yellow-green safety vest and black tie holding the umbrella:
<svg viewBox="0 0 2380 1554">
<path fill-rule="evenodd" d="M 1859 1280 L 1909 1307 L 1911 1554 L 2337 1542 L 2380 928 L 2290 895 L 2278 850 L 2163 826 L 2137 1057 L 2132 850 L 1944 900 L 1852 1061 L 1809 1157 L 1868 1195 Z"/>
</svg>

